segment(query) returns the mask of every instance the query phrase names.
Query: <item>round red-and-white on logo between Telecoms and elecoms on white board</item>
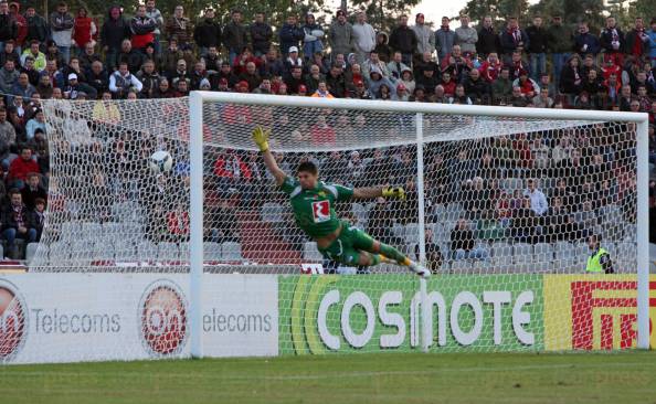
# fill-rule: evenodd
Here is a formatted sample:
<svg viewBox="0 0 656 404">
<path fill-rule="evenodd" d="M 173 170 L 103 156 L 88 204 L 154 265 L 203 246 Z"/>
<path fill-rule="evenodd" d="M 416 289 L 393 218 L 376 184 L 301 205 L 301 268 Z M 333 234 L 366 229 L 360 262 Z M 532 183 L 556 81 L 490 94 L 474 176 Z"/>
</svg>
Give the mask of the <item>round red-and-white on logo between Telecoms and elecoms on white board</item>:
<svg viewBox="0 0 656 404">
<path fill-rule="evenodd" d="M 168 279 L 150 284 L 137 316 L 141 342 L 154 357 L 179 353 L 188 339 L 187 300 L 180 287 Z"/>
</svg>

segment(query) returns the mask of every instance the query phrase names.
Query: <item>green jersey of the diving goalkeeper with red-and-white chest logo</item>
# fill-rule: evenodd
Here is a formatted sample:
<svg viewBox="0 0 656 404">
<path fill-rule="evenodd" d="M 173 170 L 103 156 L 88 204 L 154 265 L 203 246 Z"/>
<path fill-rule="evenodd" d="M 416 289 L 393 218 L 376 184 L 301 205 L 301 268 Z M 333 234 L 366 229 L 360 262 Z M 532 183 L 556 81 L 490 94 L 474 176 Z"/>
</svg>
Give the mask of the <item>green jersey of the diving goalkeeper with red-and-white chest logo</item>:
<svg viewBox="0 0 656 404">
<path fill-rule="evenodd" d="M 339 227 L 335 202 L 347 201 L 353 190 L 342 185 L 319 181 L 311 190 L 300 188 L 298 181 L 287 177 L 281 190 L 289 195 L 296 224 L 310 237 L 324 237 Z"/>
</svg>

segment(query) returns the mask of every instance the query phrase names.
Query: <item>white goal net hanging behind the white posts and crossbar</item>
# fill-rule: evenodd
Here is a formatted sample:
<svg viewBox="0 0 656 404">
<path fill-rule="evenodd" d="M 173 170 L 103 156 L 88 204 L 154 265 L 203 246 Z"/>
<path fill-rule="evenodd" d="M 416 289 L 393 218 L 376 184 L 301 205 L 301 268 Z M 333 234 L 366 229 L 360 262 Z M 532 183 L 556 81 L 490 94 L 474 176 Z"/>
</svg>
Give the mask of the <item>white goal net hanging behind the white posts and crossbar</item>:
<svg viewBox="0 0 656 404">
<path fill-rule="evenodd" d="M 493 116 L 411 103 L 203 97 L 197 126 L 187 98 L 44 105 L 50 200 L 38 248 L 29 248 L 31 272 L 188 279 L 191 172 L 200 164 L 191 132 L 202 143 L 195 248 L 204 275 L 187 297 L 195 290 L 244 307 L 269 299 L 276 353 L 636 347 L 642 124 L 512 108 Z M 318 252 L 251 140 L 258 125 L 271 129 L 288 176 L 309 160 L 327 183 L 405 189 L 405 200 L 334 208 L 424 263 L 434 274 L 425 294 L 405 268 L 348 267 Z M 170 170 L 151 167 L 159 150 L 172 158 Z M 600 258 L 592 237 L 607 255 Z M 251 295 L 240 300 L 244 289 L 210 281 L 221 276 L 252 281 Z M 275 296 L 257 279 L 274 279 Z M 197 309 L 202 325 L 191 330 L 202 328 L 207 347 L 220 337 L 205 334 L 229 320 Z M 235 325 L 244 342 L 234 343 L 252 351 L 228 345 L 226 354 L 269 354 L 257 350 L 262 321 Z"/>
</svg>

